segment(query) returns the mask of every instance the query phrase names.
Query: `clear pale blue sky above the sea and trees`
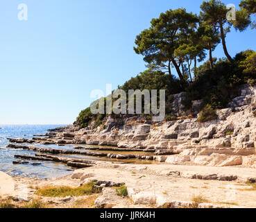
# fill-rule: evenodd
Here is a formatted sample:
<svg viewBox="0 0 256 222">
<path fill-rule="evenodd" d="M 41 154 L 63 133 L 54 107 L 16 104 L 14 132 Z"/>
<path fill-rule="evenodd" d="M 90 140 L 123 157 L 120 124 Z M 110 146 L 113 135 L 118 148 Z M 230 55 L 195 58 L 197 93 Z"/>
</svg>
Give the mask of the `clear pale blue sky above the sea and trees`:
<svg viewBox="0 0 256 222">
<path fill-rule="evenodd" d="M 73 123 L 92 89 L 144 71 L 135 36 L 160 12 L 200 11 L 189 0 L 3 0 L 0 5 L 0 123 Z M 28 21 L 17 19 L 26 3 Z M 224 1 L 239 5 L 238 0 Z M 256 50 L 255 31 L 227 37 L 232 56 Z M 221 45 L 214 56 L 223 57 Z"/>
</svg>

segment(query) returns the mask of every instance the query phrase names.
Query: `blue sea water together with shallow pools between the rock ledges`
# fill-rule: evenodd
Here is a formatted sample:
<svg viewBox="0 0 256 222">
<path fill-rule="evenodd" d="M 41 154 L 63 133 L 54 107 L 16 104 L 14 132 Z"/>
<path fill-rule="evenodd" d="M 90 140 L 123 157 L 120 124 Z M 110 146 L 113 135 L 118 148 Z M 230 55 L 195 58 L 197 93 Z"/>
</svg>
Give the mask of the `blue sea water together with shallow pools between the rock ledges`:
<svg viewBox="0 0 256 222">
<path fill-rule="evenodd" d="M 63 126 L 63 125 L 62 125 Z M 51 128 L 59 127 L 59 125 L 0 125 L 0 171 L 8 173 L 10 176 L 24 176 L 24 177 L 36 177 L 36 178 L 58 178 L 61 176 L 66 176 L 67 174 L 74 171 L 73 168 L 67 167 L 66 164 L 58 162 L 39 162 L 37 166 L 31 164 L 12 164 L 15 159 L 15 155 L 34 155 L 36 152 L 6 148 L 9 141 L 7 138 L 26 138 L 31 139 L 35 135 L 44 135 L 47 130 Z M 66 144 L 65 146 L 58 146 L 56 144 L 42 145 L 42 144 L 22 144 L 28 146 L 38 146 L 44 148 L 71 150 L 74 149 L 75 144 Z M 154 153 L 148 153 L 144 151 L 108 151 L 110 146 L 94 146 L 94 145 L 79 145 L 80 151 L 89 151 L 95 153 L 113 153 L 113 154 L 134 154 L 134 155 L 154 155 Z M 91 150 L 92 148 L 106 148 L 106 150 Z M 116 160 L 109 159 L 107 157 L 94 157 L 87 155 L 58 155 L 63 157 L 79 158 L 84 160 L 101 160 L 108 162 L 121 162 L 121 163 L 133 163 L 133 164 L 160 164 L 157 161 L 151 160 Z"/>
</svg>

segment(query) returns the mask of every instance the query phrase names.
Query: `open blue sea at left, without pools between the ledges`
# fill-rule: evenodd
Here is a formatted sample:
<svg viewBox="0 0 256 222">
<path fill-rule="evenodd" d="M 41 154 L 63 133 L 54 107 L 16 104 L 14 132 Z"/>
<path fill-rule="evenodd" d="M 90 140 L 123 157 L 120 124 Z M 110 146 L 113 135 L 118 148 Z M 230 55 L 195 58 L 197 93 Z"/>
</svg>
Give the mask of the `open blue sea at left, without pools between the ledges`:
<svg viewBox="0 0 256 222">
<path fill-rule="evenodd" d="M 44 135 L 48 129 L 60 125 L 0 125 L 0 171 L 10 176 L 26 176 L 37 178 L 54 178 L 65 176 L 70 173 L 70 168 L 61 163 L 43 162 L 41 165 L 31 164 L 14 165 L 14 155 L 33 154 L 31 151 L 15 150 L 6 148 L 9 142 L 7 138 L 28 138 L 33 135 Z"/>
</svg>

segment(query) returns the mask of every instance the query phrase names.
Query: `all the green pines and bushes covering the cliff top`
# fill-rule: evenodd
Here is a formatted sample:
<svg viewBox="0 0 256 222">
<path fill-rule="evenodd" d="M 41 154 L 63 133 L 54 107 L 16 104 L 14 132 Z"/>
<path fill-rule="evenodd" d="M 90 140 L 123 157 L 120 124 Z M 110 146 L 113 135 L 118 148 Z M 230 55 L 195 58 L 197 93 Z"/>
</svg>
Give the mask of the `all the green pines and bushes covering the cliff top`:
<svg viewBox="0 0 256 222">
<path fill-rule="evenodd" d="M 169 107 L 172 95 L 180 92 L 187 92 L 182 101 L 185 114 L 191 109 L 191 101 L 203 100 L 198 121 L 216 118 L 214 110 L 225 108 L 232 96 L 237 96 L 240 85 L 256 84 L 256 52 L 248 49 L 232 57 L 227 46 L 226 36 L 232 30 L 256 28 L 256 0 L 241 1 L 239 6 L 235 20 L 228 19 L 229 9 L 218 0 L 203 1 L 199 15 L 178 8 L 152 19 L 150 28 L 135 38 L 135 53 L 143 56 L 146 70 L 119 89 L 165 89 L 167 121 L 176 119 Z M 219 44 L 225 58 L 214 57 Z M 105 117 L 87 108 L 75 124 L 85 128 L 94 123 L 97 127 Z"/>
</svg>

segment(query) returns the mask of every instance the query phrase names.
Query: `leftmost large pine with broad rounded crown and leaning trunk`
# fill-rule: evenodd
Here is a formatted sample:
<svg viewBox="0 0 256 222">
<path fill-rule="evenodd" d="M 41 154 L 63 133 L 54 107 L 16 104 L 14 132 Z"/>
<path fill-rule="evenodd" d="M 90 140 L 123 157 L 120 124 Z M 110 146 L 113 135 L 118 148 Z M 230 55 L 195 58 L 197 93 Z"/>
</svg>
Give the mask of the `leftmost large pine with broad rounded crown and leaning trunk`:
<svg viewBox="0 0 256 222">
<path fill-rule="evenodd" d="M 159 18 L 152 19 L 150 28 L 137 35 L 135 52 L 142 54 L 145 62 L 167 68 L 169 74 L 172 64 L 180 80 L 184 80 L 174 51 L 182 42 L 185 43 L 184 36 L 193 30 L 198 22 L 198 17 L 184 8 L 167 10 Z"/>
</svg>

